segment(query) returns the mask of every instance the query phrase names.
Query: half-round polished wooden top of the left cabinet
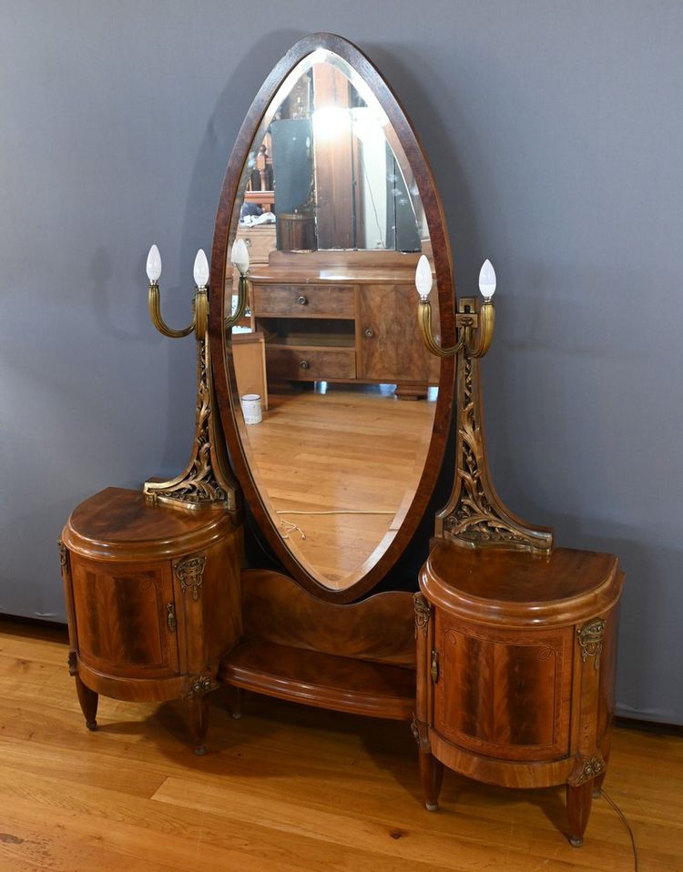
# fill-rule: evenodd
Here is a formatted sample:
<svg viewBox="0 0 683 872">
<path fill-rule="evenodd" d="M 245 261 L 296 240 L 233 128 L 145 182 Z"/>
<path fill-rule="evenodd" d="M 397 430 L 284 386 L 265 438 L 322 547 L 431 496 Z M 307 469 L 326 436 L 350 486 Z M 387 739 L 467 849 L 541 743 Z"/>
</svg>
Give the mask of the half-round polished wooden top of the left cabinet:
<svg viewBox="0 0 683 872">
<path fill-rule="evenodd" d="M 227 512 L 152 506 L 142 492 L 107 488 L 76 507 L 62 540 L 98 560 L 158 560 L 206 548 L 231 528 Z"/>
</svg>

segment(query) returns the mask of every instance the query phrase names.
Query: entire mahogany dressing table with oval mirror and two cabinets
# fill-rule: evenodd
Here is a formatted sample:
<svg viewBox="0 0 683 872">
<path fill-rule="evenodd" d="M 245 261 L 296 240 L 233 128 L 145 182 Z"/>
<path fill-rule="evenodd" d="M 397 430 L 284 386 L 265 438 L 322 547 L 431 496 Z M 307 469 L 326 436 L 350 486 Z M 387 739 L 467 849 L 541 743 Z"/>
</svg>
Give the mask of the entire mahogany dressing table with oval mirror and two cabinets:
<svg viewBox="0 0 683 872">
<path fill-rule="evenodd" d="M 266 154 L 273 190 L 255 192 Z M 272 211 L 275 234 L 253 235 L 245 203 Z M 210 275 L 200 255 L 184 330 L 161 316 L 156 247 L 148 260 L 155 325 L 197 341 L 188 467 L 91 498 L 60 542 L 87 726 L 99 694 L 185 698 L 203 753 L 219 685 L 400 719 L 427 808 L 443 765 L 566 784 L 579 844 L 607 765 L 623 576 L 616 558 L 555 549 L 495 495 L 479 388 L 493 304 L 455 300 L 431 170 L 357 48 L 311 35 L 274 68 L 229 158 Z M 238 324 L 265 346 L 269 403 L 253 424 Z M 453 420 L 454 489 L 423 542 L 420 591 L 406 578 L 373 593 L 401 574 L 437 477 L 453 474 Z M 270 561 L 245 563 L 245 508 Z"/>
</svg>

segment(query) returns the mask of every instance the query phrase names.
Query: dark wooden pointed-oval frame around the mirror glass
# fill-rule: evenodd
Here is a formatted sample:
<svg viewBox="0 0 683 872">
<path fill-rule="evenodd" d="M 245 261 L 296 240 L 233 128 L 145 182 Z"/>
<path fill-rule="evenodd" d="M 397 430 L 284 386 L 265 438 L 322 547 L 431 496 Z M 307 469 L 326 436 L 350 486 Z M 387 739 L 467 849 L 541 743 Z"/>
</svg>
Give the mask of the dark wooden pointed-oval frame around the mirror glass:
<svg viewBox="0 0 683 872">
<path fill-rule="evenodd" d="M 243 451 L 240 432 L 235 420 L 234 371 L 228 363 L 227 344 L 229 334 L 223 327 L 227 314 L 225 311 L 225 283 L 228 278 L 228 253 L 237 231 L 230 227 L 235 199 L 240 193 L 240 178 L 249 155 L 250 145 L 260 126 L 271 100 L 276 95 L 282 81 L 291 70 L 316 49 L 328 49 L 342 57 L 356 70 L 376 96 L 389 118 L 405 157 L 408 160 L 422 198 L 424 215 L 429 228 L 433 247 L 433 266 L 438 290 L 440 331 L 443 344 L 454 343 L 455 291 L 451 266 L 451 250 L 443 217 L 443 207 L 434 184 L 432 170 L 423 155 L 420 141 L 406 117 L 403 107 L 386 84 L 371 61 L 352 43 L 341 36 L 331 34 L 311 34 L 305 36 L 282 57 L 260 87 L 250 106 L 240 133 L 229 157 L 223 187 L 220 193 L 218 213 L 211 249 L 211 272 L 209 288 L 209 339 L 212 369 L 216 395 L 220 410 L 220 421 L 229 451 L 230 464 L 235 473 L 246 502 L 260 530 L 265 534 L 270 547 L 280 560 L 284 569 L 303 588 L 314 593 L 321 600 L 335 603 L 350 603 L 382 581 L 382 578 L 397 562 L 408 542 L 411 541 L 418 524 L 430 502 L 433 488 L 443 463 L 443 454 L 450 430 L 454 403 L 454 359 L 441 361 L 438 396 L 434 411 L 432 438 L 424 463 L 423 473 L 413 496 L 413 502 L 406 513 L 401 527 L 396 532 L 384 553 L 382 553 L 367 573 L 344 590 L 331 590 L 318 582 L 291 553 L 277 527 L 266 510 L 253 473 Z M 415 323 L 415 330 L 418 325 Z"/>
</svg>

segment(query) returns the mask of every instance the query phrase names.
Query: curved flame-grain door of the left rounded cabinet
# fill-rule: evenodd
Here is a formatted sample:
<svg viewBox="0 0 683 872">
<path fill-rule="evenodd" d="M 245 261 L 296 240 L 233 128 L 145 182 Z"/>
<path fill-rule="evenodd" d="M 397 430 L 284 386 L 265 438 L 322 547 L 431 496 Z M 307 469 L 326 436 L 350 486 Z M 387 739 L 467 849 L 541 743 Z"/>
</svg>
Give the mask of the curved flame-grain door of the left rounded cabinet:
<svg viewBox="0 0 683 872">
<path fill-rule="evenodd" d="M 170 563 L 92 561 L 72 555 L 77 650 L 89 667 L 130 678 L 178 674 Z"/>
</svg>

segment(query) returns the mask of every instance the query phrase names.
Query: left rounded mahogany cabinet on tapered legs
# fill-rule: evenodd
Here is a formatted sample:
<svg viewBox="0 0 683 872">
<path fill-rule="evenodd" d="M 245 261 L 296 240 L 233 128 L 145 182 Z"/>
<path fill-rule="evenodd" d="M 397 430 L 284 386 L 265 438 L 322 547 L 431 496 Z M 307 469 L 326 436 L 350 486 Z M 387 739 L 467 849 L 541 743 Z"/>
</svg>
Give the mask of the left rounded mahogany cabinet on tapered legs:
<svg viewBox="0 0 683 872">
<path fill-rule="evenodd" d="M 71 514 L 59 542 L 69 667 L 89 729 L 100 694 L 182 698 L 204 753 L 207 694 L 241 634 L 240 537 L 227 512 L 152 507 L 119 488 Z"/>
</svg>

